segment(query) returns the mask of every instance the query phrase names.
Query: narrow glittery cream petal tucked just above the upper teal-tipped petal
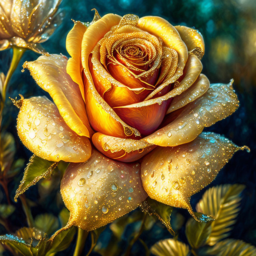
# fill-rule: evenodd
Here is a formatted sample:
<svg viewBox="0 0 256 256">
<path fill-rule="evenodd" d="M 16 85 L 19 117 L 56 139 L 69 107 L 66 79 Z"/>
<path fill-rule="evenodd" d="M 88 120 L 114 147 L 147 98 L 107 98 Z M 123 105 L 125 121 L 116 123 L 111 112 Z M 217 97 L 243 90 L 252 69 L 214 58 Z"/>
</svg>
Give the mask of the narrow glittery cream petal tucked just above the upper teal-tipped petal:
<svg viewBox="0 0 256 256">
<path fill-rule="evenodd" d="M 169 114 L 177 109 L 180 109 L 190 102 L 196 100 L 201 97 L 210 87 L 209 79 L 204 75 L 200 74 L 197 80 L 193 83 L 191 87 L 189 87 L 182 94 L 174 97 L 169 109 L 166 114 Z"/>
</svg>

